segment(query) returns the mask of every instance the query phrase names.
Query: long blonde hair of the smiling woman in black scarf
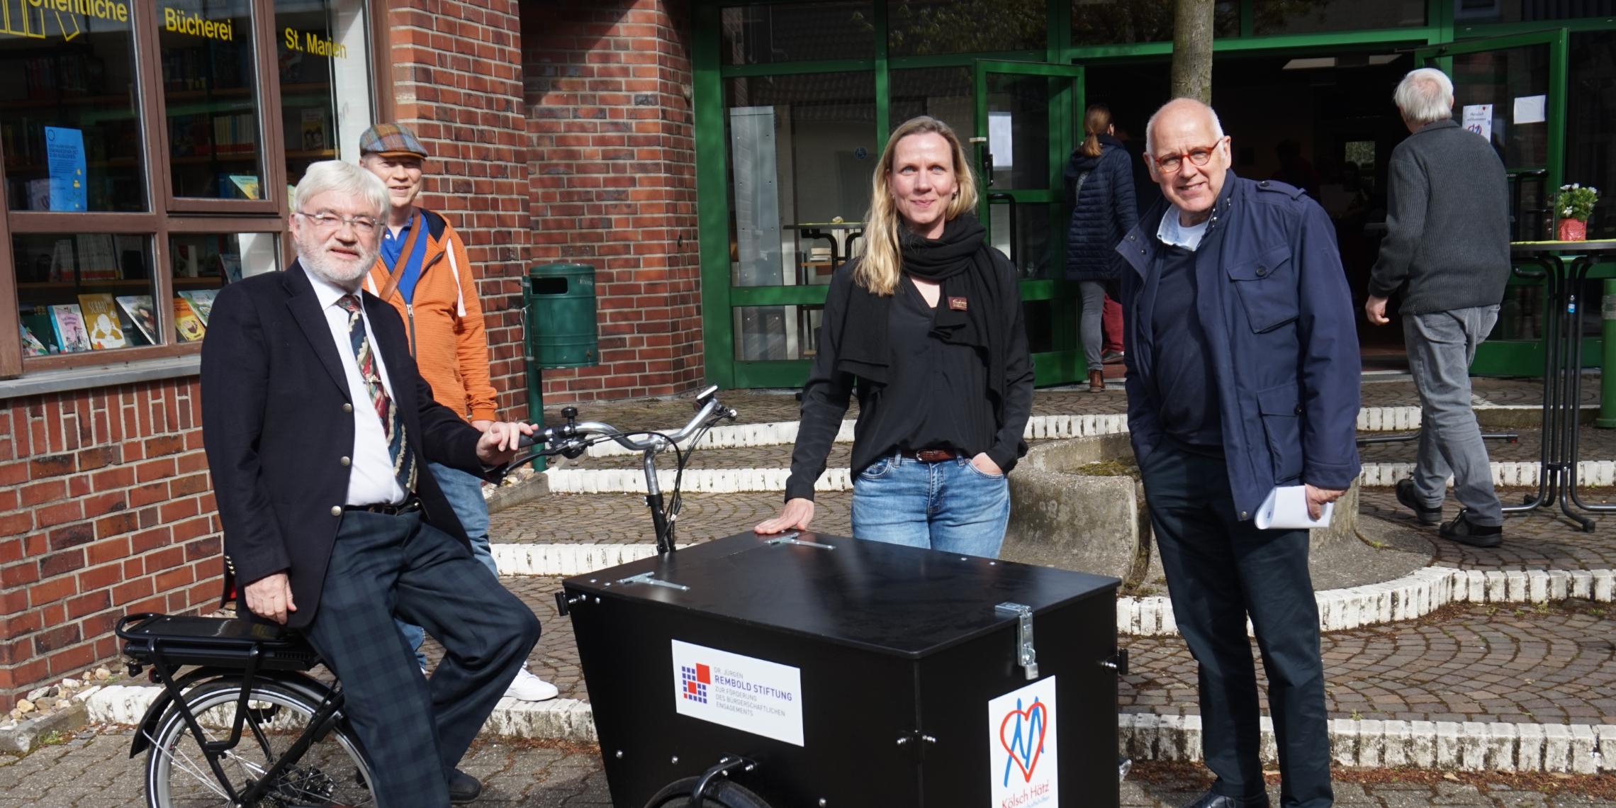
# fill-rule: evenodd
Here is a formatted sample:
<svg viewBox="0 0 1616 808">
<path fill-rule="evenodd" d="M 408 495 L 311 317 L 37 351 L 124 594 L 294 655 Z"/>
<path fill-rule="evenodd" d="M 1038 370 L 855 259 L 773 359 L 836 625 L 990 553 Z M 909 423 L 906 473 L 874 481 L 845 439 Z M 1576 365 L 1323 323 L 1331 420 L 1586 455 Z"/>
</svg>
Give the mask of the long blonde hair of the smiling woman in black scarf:
<svg viewBox="0 0 1616 808">
<path fill-rule="evenodd" d="M 895 292 L 898 280 L 903 276 L 903 255 L 898 250 L 903 223 L 898 221 L 897 208 L 892 204 L 887 178 L 892 176 L 892 160 L 898 141 L 911 134 L 939 134 L 949 141 L 949 152 L 953 155 L 955 194 L 949 200 L 944 218 L 953 221 L 960 213 L 976 207 L 976 175 L 971 171 L 971 162 L 965 157 L 965 147 L 960 145 L 960 136 L 953 134 L 949 124 L 921 115 L 894 129 L 892 137 L 887 137 L 887 147 L 881 150 L 881 162 L 876 163 L 876 173 L 869 181 L 869 212 L 865 213 L 865 238 L 860 239 L 863 250 L 858 263 L 853 265 L 853 283 L 881 296 Z"/>
</svg>

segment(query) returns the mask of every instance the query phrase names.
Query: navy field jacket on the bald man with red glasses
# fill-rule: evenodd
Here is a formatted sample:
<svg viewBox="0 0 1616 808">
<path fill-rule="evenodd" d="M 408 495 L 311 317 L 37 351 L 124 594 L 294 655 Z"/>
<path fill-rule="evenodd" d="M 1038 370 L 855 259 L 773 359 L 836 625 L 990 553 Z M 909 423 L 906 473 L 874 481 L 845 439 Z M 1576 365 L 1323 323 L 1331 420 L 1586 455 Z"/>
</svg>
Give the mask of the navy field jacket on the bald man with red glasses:
<svg viewBox="0 0 1616 808">
<path fill-rule="evenodd" d="M 1128 428 L 1143 461 L 1165 438 L 1152 344 L 1139 318 L 1157 271 L 1157 202 L 1117 246 L 1128 315 Z M 1302 191 L 1228 173 L 1196 250 L 1196 310 L 1223 415 L 1223 452 L 1239 519 L 1275 485 L 1345 490 L 1357 478 L 1359 354 L 1353 296 L 1330 217 Z"/>
</svg>

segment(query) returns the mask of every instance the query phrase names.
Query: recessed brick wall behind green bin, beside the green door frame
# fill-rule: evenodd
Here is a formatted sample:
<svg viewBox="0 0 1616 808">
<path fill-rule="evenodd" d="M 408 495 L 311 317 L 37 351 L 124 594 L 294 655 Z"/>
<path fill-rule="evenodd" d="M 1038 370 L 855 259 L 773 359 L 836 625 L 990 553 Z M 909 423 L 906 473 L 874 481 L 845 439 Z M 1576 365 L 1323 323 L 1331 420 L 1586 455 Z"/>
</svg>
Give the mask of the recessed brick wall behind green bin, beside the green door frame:
<svg viewBox="0 0 1616 808">
<path fill-rule="evenodd" d="M 600 367 L 546 370 L 545 401 L 693 389 L 705 372 L 688 3 L 541 8 L 522 19 L 530 255 L 595 265 L 601 349 Z"/>
</svg>

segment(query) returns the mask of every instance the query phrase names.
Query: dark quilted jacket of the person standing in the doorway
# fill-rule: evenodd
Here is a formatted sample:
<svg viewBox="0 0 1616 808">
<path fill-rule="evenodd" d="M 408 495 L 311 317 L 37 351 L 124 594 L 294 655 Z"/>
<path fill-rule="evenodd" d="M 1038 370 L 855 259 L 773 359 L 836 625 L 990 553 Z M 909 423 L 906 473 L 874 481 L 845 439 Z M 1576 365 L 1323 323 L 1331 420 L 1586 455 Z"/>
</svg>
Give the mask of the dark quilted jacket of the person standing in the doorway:
<svg viewBox="0 0 1616 808">
<path fill-rule="evenodd" d="M 1083 189 L 1078 191 L 1078 178 Z M 1071 152 L 1067 162 L 1067 280 L 1113 281 L 1122 276 L 1117 242 L 1139 221 L 1133 199 L 1133 170 L 1122 141 L 1100 136 L 1100 155 Z"/>
</svg>

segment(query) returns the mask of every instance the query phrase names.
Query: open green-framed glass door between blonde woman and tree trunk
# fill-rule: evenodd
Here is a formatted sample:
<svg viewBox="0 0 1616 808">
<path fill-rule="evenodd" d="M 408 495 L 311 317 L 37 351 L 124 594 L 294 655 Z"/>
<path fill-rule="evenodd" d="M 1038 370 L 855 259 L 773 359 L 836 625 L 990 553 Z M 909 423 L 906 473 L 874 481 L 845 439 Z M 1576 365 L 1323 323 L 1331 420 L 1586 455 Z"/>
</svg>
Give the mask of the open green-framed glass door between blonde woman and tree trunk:
<svg viewBox="0 0 1616 808">
<path fill-rule="evenodd" d="M 1084 378 L 1076 283 L 1065 280 L 1065 165 L 1083 123 L 1083 68 L 976 61 L 976 179 L 991 242 L 1021 276 L 1039 386 Z"/>
</svg>

